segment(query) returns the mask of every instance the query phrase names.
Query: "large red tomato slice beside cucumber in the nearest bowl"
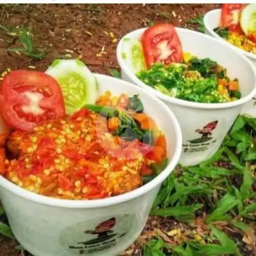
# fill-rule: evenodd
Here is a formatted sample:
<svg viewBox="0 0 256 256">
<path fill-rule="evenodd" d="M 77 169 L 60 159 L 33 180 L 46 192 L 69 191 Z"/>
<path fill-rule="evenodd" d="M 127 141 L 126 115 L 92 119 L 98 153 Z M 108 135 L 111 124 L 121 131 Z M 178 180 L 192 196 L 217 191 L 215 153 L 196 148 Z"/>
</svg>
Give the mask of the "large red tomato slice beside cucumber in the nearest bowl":
<svg viewBox="0 0 256 256">
<path fill-rule="evenodd" d="M 33 131 L 41 121 L 65 115 L 58 82 L 45 73 L 27 70 L 12 71 L 5 76 L 0 110 L 10 127 L 27 132 Z"/>
</svg>

